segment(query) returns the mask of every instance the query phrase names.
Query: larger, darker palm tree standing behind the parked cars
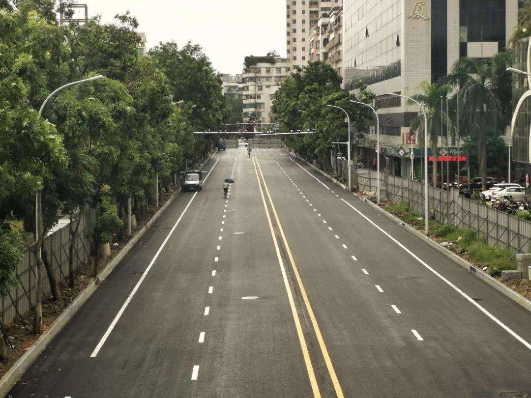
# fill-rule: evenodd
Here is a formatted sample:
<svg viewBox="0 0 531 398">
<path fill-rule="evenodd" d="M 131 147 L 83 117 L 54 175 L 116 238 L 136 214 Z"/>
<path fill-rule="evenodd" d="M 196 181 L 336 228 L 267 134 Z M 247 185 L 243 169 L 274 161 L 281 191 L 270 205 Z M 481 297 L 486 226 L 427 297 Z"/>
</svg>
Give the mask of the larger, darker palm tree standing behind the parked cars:
<svg viewBox="0 0 531 398">
<path fill-rule="evenodd" d="M 487 132 L 498 131 L 502 135 L 511 117 L 511 75 L 506 71 L 511 58 L 509 51 L 481 61 L 460 58 L 452 72 L 438 82 L 441 86 L 460 87 L 460 131 L 477 134 L 483 190 L 487 189 Z"/>
</svg>

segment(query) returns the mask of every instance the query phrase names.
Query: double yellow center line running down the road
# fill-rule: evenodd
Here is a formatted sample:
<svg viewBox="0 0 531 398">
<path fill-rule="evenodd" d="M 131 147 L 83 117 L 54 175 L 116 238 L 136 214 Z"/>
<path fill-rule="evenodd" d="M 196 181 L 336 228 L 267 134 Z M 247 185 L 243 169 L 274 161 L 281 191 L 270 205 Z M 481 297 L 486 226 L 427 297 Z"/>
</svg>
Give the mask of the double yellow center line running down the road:
<svg viewBox="0 0 531 398">
<path fill-rule="evenodd" d="M 317 338 L 317 340 L 319 342 L 319 347 L 320 347 L 321 352 L 323 354 L 324 362 L 326 363 L 326 366 L 327 366 L 327 369 L 328 369 L 328 373 L 330 374 L 330 378 L 332 380 L 332 385 L 334 387 L 336 395 L 338 397 L 343 397 L 343 392 L 341 390 L 341 385 L 339 384 L 339 380 L 337 378 L 336 371 L 334 370 L 333 365 L 332 365 L 332 361 L 330 360 L 330 356 L 328 354 L 328 350 L 327 350 L 326 344 L 324 344 L 323 336 L 321 334 L 321 329 L 319 328 L 319 324 L 317 323 L 317 319 L 315 318 L 315 314 L 313 313 L 312 306 L 310 305 L 310 300 L 308 299 L 308 296 L 306 295 L 306 290 L 304 289 L 304 284 L 302 283 L 301 275 L 299 275 L 299 272 L 298 272 L 298 269 L 297 269 L 297 265 L 295 264 L 295 260 L 294 260 L 293 255 L 292 255 L 292 250 L 289 248 L 289 244 L 288 244 L 288 241 L 286 239 L 286 235 L 284 234 L 284 229 L 282 229 L 282 225 L 280 224 L 280 220 L 278 218 L 278 214 L 277 214 L 277 211 L 275 209 L 275 204 L 273 204 L 273 200 L 272 200 L 271 195 L 269 193 L 269 189 L 268 189 L 267 183 L 265 182 L 265 178 L 263 176 L 262 169 L 260 167 L 260 163 L 259 163 L 258 159 L 256 159 L 255 157 L 253 157 L 253 166 L 254 166 L 254 172 L 256 174 L 256 179 L 258 180 L 258 186 L 260 188 L 260 194 L 262 196 L 262 201 L 263 201 L 263 205 L 264 205 L 264 209 L 265 209 L 265 214 L 267 215 L 267 219 L 268 219 L 268 223 L 269 223 L 269 229 L 271 231 L 271 236 L 273 238 L 273 244 L 275 244 L 277 257 L 278 257 L 278 261 L 279 261 L 279 264 L 280 264 L 280 269 L 281 269 L 281 272 L 282 272 L 282 278 L 284 279 L 286 292 L 288 294 L 289 305 L 290 305 L 290 307 L 292 309 L 293 320 L 295 321 L 295 327 L 296 327 L 296 330 L 297 330 L 299 343 L 301 344 L 303 358 L 304 358 L 304 362 L 305 362 L 306 369 L 307 369 L 307 372 L 308 372 L 308 376 L 310 378 L 310 384 L 312 386 L 313 395 L 315 397 L 320 397 L 321 393 L 319 392 L 319 386 L 318 386 L 317 380 L 315 378 L 315 373 L 314 373 L 314 370 L 313 370 L 312 361 L 310 359 L 310 353 L 308 352 L 308 349 L 307 349 L 306 340 L 304 338 L 304 334 L 303 334 L 303 331 L 302 331 L 301 322 L 299 320 L 299 316 L 298 316 L 298 313 L 297 313 L 297 308 L 296 308 L 295 302 L 293 300 L 293 293 L 292 293 L 292 290 L 291 290 L 291 288 L 289 286 L 286 270 L 285 270 L 285 267 L 284 267 L 284 262 L 282 261 L 282 257 L 280 255 L 278 241 L 277 241 L 277 238 L 275 236 L 275 231 L 273 230 L 273 224 L 271 222 L 271 217 L 269 215 L 269 210 L 268 210 L 268 207 L 267 207 L 267 203 L 265 201 L 262 185 L 263 185 L 263 188 L 265 189 L 265 193 L 267 194 L 267 197 L 269 199 L 269 204 L 271 206 L 271 210 L 273 212 L 273 215 L 275 215 L 275 220 L 277 222 L 277 226 L 278 226 L 278 229 L 280 231 L 280 236 L 282 237 L 282 242 L 284 243 L 284 246 L 286 248 L 286 252 L 288 254 L 289 262 L 292 265 L 293 273 L 294 273 L 295 278 L 297 280 L 297 284 L 298 284 L 299 290 L 301 291 L 301 296 L 303 298 L 304 305 L 306 306 L 306 310 L 307 310 L 307 312 L 308 312 L 308 314 L 310 316 L 310 319 L 311 319 L 311 322 L 312 322 L 312 326 L 313 326 L 313 330 L 315 332 L 315 336 L 316 336 L 316 338 Z M 257 167 L 258 167 L 258 170 L 257 170 Z M 259 176 L 259 172 L 260 172 L 260 176 Z M 261 177 L 261 179 L 260 179 L 260 177 Z"/>
</svg>

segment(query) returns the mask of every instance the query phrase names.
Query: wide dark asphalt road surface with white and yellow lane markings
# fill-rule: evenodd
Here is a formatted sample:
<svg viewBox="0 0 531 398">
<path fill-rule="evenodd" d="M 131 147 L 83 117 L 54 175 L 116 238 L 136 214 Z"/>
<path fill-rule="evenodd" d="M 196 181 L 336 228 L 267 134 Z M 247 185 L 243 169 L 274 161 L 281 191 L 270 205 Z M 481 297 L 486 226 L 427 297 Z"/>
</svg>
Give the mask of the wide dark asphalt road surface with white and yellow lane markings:
<svg viewBox="0 0 531 398">
<path fill-rule="evenodd" d="M 523 307 L 286 151 L 205 170 L 11 396 L 531 394 Z"/>
</svg>

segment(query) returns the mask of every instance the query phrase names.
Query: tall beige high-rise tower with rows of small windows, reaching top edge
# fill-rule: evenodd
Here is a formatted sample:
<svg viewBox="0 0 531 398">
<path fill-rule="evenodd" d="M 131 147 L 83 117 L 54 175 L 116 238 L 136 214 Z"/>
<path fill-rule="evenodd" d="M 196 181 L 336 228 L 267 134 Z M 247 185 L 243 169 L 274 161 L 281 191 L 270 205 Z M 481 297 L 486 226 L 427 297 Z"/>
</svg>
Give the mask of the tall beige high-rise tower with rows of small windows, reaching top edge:
<svg viewBox="0 0 531 398">
<path fill-rule="evenodd" d="M 308 38 L 322 13 L 341 0 L 286 0 L 286 54 L 292 66 L 306 66 L 309 57 Z"/>
</svg>

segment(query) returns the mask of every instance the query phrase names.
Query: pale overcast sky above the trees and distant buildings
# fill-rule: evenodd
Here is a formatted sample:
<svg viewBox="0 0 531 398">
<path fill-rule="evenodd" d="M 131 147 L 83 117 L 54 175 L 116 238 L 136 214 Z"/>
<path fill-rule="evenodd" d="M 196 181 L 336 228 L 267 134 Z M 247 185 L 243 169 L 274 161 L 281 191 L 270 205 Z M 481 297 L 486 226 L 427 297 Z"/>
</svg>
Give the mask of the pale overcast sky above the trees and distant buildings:
<svg viewBox="0 0 531 398">
<path fill-rule="evenodd" d="M 147 47 L 191 40 L 203 47 L 221 73 L 241 73 L 246 55 L 276 50 L 286 55 L 286 0 L 85 0 L 89 16 L 130 10 L 145 32 Z"/>
</svg>

